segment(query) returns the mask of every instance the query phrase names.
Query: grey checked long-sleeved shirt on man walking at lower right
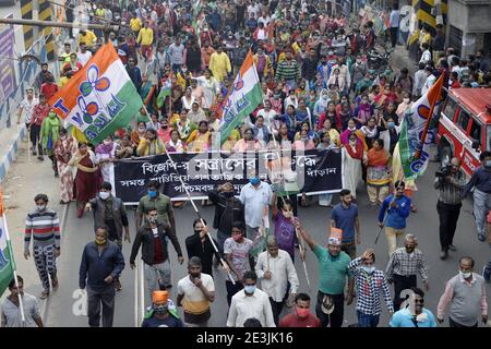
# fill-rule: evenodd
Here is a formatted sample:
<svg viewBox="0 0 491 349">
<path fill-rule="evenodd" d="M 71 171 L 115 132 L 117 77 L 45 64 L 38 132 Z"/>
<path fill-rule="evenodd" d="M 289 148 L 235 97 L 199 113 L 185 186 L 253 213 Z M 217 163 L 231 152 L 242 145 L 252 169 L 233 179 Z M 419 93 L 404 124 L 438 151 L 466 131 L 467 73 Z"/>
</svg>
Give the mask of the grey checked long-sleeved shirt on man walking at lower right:
<svg viewBox="0 0 491 349">
<path fill-rule="evenodd" d="M 412 253 L 407 253 L 406 248 L 394 251 L 385 269 L 388 280 L 393 279 L 394 274 L 409 276 L 418 272 L 423 281 L 428 280 L 428 267 L 422 252 L 416 249 Z"/>
</svg>

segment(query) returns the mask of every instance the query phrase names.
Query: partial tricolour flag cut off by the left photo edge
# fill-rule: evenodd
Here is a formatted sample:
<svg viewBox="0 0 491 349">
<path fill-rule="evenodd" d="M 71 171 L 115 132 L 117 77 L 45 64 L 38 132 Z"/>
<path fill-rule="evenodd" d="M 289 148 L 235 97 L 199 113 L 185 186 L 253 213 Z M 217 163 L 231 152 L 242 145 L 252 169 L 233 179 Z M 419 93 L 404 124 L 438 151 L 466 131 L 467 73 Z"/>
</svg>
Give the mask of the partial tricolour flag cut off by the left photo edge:
<svg viewBox="0 0 491 349">
<path fill-rule="evenodd" d="M 0 191 L 0 297 L 12 281 L 15 269 L 12 244 L 7 230 L 7 219 L 3 215 L 3 195 Z"/>
</svg>

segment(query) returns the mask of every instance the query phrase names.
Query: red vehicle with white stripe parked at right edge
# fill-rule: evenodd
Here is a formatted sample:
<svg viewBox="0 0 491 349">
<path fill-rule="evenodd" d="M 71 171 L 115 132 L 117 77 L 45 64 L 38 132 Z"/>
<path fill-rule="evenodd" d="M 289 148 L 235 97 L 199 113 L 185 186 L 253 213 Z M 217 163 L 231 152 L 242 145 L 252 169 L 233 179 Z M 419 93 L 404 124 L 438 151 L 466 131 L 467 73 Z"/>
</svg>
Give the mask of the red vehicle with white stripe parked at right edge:
<svg viewBox="0 0 491 349">
<path fill-rule="evenodd" d="M 468 177 L 480 166 L 479 154 L 491 151 L 491 88 L 454 88 L 443 104 L 436 141 L 441 164 L 453 156 Z"/>
</svg>

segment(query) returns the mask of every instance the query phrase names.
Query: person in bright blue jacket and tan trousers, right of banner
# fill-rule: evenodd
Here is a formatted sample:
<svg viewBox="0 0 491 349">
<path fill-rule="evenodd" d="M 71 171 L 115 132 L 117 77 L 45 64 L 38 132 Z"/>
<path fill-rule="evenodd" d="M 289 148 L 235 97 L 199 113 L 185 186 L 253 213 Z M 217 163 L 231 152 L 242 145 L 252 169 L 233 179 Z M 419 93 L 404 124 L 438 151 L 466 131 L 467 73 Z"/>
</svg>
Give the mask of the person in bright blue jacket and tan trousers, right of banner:
<svg viewBox="0 0 491 349">
<path fill-rule="evenodd" d="M 410 213 L 411 200 L 404 194 L 405 185 L 403 181 L 396 181 L 394 194 L 385 197 L 379 212 L 379 227 L 385 226 L 390 256 L 397 249 L 397 238 L 404 233 Z"/>
</svg>

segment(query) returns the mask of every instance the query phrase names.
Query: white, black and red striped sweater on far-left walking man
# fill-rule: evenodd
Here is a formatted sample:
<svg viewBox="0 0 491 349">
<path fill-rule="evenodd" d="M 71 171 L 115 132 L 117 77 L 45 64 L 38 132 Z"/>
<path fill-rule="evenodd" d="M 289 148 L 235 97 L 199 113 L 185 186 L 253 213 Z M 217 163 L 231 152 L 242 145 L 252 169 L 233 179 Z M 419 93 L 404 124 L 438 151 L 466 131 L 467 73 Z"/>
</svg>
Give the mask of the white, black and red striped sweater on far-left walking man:
<svg viewBox="0 0 491 349">
<path fill-rule="evenodd" d="M 28 252 L 31 237 L 33 244 L 48 246 L 55 244 L 60 248 L 60 220 L 57 213 L 50 208 L 44 212 L 34 212 L 27 215 L 25 220 L 24 251 Z"/>
</svg>

